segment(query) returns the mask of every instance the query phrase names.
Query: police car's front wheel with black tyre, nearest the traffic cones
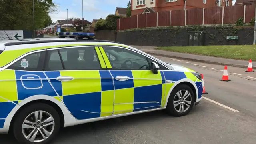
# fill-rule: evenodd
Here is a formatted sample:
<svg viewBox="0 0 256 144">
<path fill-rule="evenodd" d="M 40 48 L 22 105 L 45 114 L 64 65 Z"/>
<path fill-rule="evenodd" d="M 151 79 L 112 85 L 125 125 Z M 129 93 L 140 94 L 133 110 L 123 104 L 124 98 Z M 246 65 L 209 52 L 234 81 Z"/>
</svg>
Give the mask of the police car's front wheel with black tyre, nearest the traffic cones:
<svg viewBox="0 0 256 144">
<path fill-rule="evenodd" d="M 186 96 L 184 96 L 184 98 L 186 98 L 185 100 L 184 98 L 179 99 L 179 96 L 185 95 L 185 92 L 187 92 L 186 96 L 188 96 L 188 93 L 190 94 L 190 96 L 188 96 L 187 98 Z M 170 115 L 175 117 L 185 116 L 192 110 L 194 106 L 194 102 L 195 102 L 195 96 L 194 96 L 193 90 L 185 84 L 180 84 L 172 90 L 168 99 L 166 110 Z M 182 112 L 182 105 L 183 105 L 183 112 Z"/>
</svg>

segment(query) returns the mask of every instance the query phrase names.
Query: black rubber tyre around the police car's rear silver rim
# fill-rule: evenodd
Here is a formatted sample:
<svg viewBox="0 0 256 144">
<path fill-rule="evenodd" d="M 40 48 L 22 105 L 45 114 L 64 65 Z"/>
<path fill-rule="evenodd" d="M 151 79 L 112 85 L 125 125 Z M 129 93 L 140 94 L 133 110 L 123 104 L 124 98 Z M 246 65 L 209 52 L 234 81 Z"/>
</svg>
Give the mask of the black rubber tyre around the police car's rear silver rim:
<svg viewBox="0 0 256 144">
<path fill-rule="evenodd" d="M 24 133 L 28 130 L 28 129 L 24 129 L 22 126 L 24 124 L 24 120 L 28 120 L 27 117 L 30 116 L 30 115 L 33 115 L 33 113 L 35 112 L 38 112 L 39 111 L 39 117 L 38 119 L 40 119 L 40 113 L 42 112 L 43 116 L 42 117 L 42 125 L 46 125 L 46 124 L 52 124 L 52 122 L 54 124 L 52 124 L 51 126 L 54 128 L 53 130 L 50 130 L 51 134 L 50 136 L 47 136 L 46 132 L 44 132 L 44 136 L 46 137 L 45 140 L 43 141 L 39 141 L 39 142 L 31 142 L 29 140 L 27 140 L 24 136 Z M 51 117 L 51 120 L 53 121 L 50 121 L 50 122 L 45 122 L 46 119 L 44 119 L 44 116 L 45 118 L 47 118 L 47 114 L 49 115 L 49 118 Z M 34 114 L 35 116 L 35 114 Z M 35 118 L 35 117 L 34 117 Z M 30 119 L 29 119 L 30 120 Z M 34 120 L 32 120 L 33 122 Z M 36 120 L 35 120 L 36 121 Z M 40 124 L 41 124 L 40 122 Z M 45 123 L 44 123 L 45 122 Z M 44 123 L 44 124 L 43 124 Z M 29 123 L 26 123 L 26 124 L 29 124 Z M 31 124 L 32 126 L 35 126 L 34 124 Z M 36 125 L 35 128 L 37 128 L 38 125 Z M 58 134 L 59 130 L 60 130 L 60 116 L 58 114 L 58 112 L 50 105 L 48 104 L 44 104 L 44 103 L 35 103 L 35 104 L 31 104 L 29 106 L 26 106 L 24 109 L 22 109 L 18 115 L 15 117 L 14 119 L 14 122 L 13 122 L 13 126 L 12 126 L 12 130 L 13 130 L 13 134 L 16 138 L 16 140 L 21 143 L 21 144 L 49 144 L 50 141 L 52 139 L 54 139 L 54 137 L 56 137 L 56 135 Z M 44 128 L 44 129 L 43 129 Z M 46 130 L 46 128 L 48 128 L 48 126 L 42 126 L 40 129 L 42 131 Z M 33 128 L 30 128 L 32 130 L 30 130 L 31 132 L 35 129 Z M 28 133 L 30 133 L 30 131 L 28 131 Z M 41 131 L 41 132 L 42 132 Z M 38 133 L 39 134 L 42 134 L 38 128 Z M 49 132 L 49 131 L 48 131 Z M 33 136 L 33 134 L 32 134 Z M 41 135 L 42 136 L 42 135 Z M 31 138 L 31 137 L 30 137 Z M 42 137 L 43 138 L 43 137 Z"/>
</svg>

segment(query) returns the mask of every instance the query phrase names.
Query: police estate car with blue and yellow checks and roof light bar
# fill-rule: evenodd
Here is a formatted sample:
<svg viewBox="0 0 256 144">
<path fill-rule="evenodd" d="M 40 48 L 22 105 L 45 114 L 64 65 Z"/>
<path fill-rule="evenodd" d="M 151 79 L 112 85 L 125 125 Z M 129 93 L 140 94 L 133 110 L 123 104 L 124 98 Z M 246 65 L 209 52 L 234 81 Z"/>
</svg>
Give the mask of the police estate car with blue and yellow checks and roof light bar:
<svg viewBox="0 0 256 144">
<path fill-rule="evenodd" d="M 199 73 L 93 39 L 67 32 L 0 42 L 0 133 L 47 144 L 61 127 L 162 109 L 184 116 L 202 99 Z"/>
</svg>

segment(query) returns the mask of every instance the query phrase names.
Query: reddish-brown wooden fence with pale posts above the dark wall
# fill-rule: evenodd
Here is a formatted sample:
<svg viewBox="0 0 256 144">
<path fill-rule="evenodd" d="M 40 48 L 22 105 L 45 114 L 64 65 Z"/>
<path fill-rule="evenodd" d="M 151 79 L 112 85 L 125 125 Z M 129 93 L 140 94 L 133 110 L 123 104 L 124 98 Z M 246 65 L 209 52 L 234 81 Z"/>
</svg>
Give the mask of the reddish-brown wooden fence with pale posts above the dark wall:
<svg viewBox="0 0 256 144">
<path fill-rule="evenodd" d="M 255 4 L 228 7 L 193 8 L 139 14 L 116 21 L 117 30 L 158 26 L 234 24 L 239 18 L 249 23 L 254 17 Z"/>
</svg>

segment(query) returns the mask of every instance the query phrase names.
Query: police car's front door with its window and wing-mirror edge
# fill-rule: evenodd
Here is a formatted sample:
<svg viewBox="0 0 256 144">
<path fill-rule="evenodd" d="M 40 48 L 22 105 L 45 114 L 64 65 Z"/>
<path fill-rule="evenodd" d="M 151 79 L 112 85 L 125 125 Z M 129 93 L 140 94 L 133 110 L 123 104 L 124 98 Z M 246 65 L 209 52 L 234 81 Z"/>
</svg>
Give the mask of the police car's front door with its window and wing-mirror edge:
<svg viewBox="0 0 256 144">
<path fill-rule="evenodd" d="M 118 46 L 99 48 L 114 78 L 113 114 L 160 108 L 164 76 L 153 74 L 146 56 Z"/>
</svg>

